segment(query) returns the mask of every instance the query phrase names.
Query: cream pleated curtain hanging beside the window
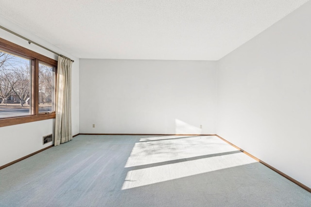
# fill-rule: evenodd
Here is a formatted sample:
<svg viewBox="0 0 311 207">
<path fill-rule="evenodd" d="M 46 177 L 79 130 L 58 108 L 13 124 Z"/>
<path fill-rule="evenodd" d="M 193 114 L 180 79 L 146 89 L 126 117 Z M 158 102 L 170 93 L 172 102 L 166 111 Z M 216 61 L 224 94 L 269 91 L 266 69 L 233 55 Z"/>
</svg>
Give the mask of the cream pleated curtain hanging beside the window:
<svg viewBox="0 0 311 207">
<path fill-rule="evenodd" d="M 72 62 L 70 60 L 58 56 L 55 102 L 55 146 L 72 140 L 71 65 Z"/>
</svg>

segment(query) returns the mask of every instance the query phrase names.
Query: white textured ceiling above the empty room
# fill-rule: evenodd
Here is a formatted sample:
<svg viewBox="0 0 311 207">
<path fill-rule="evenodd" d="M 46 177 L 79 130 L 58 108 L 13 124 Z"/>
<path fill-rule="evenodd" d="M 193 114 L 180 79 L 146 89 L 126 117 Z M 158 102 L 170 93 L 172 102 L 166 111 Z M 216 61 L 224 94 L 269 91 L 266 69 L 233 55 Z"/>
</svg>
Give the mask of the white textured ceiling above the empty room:
<svg viewBox="0 0 311 207">
<path fill-rule="evenodd" d="M 0 0 L 78 58 L 219 60 L 309 0 Z"/>
</svg>

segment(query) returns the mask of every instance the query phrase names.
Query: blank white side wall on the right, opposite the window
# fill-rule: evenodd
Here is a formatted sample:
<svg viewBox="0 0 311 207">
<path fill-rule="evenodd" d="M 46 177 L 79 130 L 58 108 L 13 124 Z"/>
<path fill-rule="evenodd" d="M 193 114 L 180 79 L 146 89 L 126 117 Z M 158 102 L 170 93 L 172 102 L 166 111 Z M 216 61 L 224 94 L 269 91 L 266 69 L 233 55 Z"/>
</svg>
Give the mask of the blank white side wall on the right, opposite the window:
<svg viewBox="0 0 311 207">
<path fill-rule="evenodd" d="M 311 2 L 219 61 L 217 134 L 311 187 Z"/>
</svg>

